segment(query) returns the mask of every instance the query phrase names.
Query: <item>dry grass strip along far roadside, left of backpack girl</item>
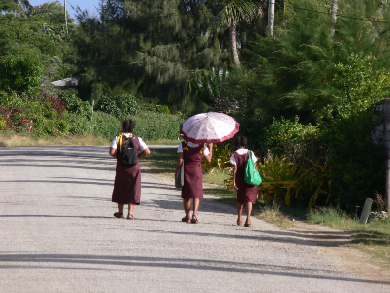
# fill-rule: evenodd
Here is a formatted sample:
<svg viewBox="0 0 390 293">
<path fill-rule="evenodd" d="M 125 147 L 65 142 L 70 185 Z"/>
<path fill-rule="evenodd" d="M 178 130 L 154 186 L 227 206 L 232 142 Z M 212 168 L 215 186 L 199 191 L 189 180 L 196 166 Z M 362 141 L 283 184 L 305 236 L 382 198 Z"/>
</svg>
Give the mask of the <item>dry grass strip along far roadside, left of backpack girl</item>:
<svg viewBox="0 0 390 293">
<path fill-rule="evenodd" d="M 1 133 L 0 146 L 108 146 L 110 142 L 93 135 L 45 136 L 33 138 L 16 133 Z"/>
</svg>

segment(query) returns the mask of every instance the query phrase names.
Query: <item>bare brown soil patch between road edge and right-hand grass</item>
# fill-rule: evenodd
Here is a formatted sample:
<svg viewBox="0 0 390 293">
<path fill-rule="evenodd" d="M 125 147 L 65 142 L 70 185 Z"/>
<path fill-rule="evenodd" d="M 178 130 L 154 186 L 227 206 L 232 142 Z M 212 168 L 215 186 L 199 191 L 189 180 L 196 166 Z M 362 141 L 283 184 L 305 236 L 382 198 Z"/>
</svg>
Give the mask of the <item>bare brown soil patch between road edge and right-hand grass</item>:
<svg viewBox="0 0 390 293">
<path fill-rule="evenodd" d="M 349 247 L 352 238 L 348 231 L 296 220 L 294 226 L 287 230 L 310 236 L 308 241 L 316 242 L 317 246 L 320 246 L 326 254 L 340 260 L 341 266 L 349 272 L 365 279 L 390 281 L 389 269 L 375 264 L 378 263 L 378 260 L 372 258 L 368 253 Z"/>
</svg>

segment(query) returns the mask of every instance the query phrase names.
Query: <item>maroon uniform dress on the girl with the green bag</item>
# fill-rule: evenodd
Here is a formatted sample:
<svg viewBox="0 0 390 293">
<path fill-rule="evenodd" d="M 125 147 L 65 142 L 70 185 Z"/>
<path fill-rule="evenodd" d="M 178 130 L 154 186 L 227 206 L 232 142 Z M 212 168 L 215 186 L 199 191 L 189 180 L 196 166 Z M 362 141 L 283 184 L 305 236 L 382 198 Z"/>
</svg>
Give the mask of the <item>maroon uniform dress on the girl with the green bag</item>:
<svg viewBox="0 0 390 293">
<path fill-rule="evenodd" d="M 234 158 L 237 163 L 237 173 L 235 175 L 235 184 L 237 190 L 237 202 L 238 203 L 256 203 L 257 195 L 259 193 L 259 187 L 248 184 L 244 181 L 245 163 L 248 160 L 248 153 L 244 155 L 234 152 Z"/>
</svg>

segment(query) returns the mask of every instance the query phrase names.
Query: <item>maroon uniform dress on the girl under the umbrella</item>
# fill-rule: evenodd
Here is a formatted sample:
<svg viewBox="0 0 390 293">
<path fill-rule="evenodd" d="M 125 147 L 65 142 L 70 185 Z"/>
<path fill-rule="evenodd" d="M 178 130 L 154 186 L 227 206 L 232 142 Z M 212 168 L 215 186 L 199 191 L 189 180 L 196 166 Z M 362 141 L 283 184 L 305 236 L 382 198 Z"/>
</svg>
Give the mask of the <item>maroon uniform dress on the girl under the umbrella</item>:
<svg viewBox="0 0 390 293">
<path fill-rule="evenodd" d="M 183 147 L 184 186 L 181 188 L 181 198 L 203 198 L 202 157 L 203 144 Z"/>
</svg>

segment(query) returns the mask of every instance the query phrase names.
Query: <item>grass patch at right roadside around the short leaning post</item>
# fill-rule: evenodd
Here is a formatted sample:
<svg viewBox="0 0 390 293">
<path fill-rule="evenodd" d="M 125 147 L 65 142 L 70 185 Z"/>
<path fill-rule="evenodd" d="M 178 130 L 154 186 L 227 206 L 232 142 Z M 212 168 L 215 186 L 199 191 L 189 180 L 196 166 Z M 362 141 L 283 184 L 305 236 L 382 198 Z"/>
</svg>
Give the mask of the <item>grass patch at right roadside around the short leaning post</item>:
<svg viewBox="0 0 390 293">
<path fill-rule="evenodd" d="M 308 222 L 351 231 L 352 247 L 369 252 L 381 265 L 390 268 L 390 219 L 369 219 L 366 225 L 335 208 L 313 209 L 308 212 Z"/>
</svg>

